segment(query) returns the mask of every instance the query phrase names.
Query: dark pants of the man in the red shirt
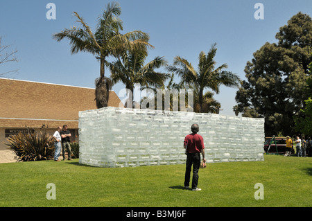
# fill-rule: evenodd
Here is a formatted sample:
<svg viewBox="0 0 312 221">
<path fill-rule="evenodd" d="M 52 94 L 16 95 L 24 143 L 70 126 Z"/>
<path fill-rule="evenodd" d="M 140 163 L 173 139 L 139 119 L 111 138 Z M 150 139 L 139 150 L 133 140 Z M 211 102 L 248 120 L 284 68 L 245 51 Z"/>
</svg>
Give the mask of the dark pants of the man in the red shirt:
<svg viewBox="0 0 312 221">
<path fill-rule="evenodd" d="M 197 188 L 198 170 L 200 168 L 200 153 L 187 154 L 187 170 L 185 171 L 184 186 L 189 186 L 192 165 L 193 165 L 192 188 Z"/>
</svg>

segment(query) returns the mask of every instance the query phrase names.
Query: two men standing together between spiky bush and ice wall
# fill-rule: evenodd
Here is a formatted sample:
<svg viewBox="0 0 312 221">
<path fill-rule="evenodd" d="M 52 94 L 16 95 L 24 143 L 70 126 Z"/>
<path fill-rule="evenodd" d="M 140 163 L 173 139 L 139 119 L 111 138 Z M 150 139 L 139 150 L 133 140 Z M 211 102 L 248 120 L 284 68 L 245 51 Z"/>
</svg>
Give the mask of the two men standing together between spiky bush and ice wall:
<svg viewBox="0 0 312 221">
<path fill-rule="evenodd" d="M 65 160 L 65 151 L 68 152 L 68 160 L 71 160 L 71 132 L 67 130 L 67 125 L 58 127 L 53 134 L 53 139 L 55 140 L 55 152 L 54 152 L 54 161 L 60 161 L 60 151 L 62 148 L 63 160 Z"/>
</svg>

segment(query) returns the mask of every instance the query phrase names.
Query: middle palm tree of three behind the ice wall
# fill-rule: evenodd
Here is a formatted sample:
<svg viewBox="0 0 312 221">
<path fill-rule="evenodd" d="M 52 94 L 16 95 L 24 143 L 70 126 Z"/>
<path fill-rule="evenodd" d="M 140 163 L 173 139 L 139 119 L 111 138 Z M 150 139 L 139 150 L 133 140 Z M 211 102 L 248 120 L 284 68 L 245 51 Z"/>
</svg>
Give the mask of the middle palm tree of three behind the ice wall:
<svg viewBox="0 0 312 221">
<path fill-rule="evenodd" d="M 132 102 L 135 84 L 153 87 L 164 85 L 164 81 L 168 78 L 168 74 L 155 71 L 155 69 L 166 66 L 166 60 L 163 57 L 156 57 L 144 65 L 147 55 L 147 50 L 128 49 L 110 64 L 110 78 L 112 78 L 113 84 L 123 82 L 125 87 L 132 92 Z M 125 106 L 132 107 L 132 103 Z"/>
</svg>

